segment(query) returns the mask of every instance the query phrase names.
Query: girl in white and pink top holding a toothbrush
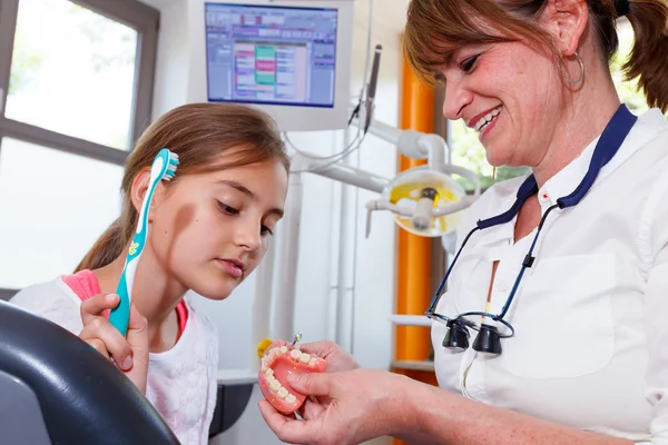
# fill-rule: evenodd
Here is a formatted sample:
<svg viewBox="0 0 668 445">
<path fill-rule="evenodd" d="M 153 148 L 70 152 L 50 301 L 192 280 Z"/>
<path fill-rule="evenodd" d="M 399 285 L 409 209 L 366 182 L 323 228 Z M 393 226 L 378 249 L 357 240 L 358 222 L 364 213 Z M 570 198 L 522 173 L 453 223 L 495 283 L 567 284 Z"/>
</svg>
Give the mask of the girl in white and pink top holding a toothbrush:
<svg viewBox="0 0 668 445">
<path fill-rule="evenodd" d="M 127 337 L 106 318 L 161 148 L 179 157 L 160 181 L 132 289 Z M 288 158 L 274 122 L 232 103 L 176 108 L 154 122 L 129 156 L 120 217 L 73 275 L 11 300 L 114 359 L 145 392 L 183 444 L 206 444 L 216 399 L 217 333 L 186 296 L 229 296 L 262 260 L 283 215 Z"/>
</svg>

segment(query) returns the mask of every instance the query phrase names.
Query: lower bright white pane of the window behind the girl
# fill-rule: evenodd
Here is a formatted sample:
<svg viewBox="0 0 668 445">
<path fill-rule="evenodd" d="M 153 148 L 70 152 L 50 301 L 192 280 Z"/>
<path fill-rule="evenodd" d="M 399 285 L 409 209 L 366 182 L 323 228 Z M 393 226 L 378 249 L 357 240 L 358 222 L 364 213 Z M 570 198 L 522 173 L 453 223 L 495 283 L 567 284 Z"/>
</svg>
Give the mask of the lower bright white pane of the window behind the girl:
<svg viewBox="0 0 668 445">
<path fill-rule="evenodd" d="M 2 138 L 2 286 L 18 289 L 71 271 L 118 217 L 121 178 L 116 164 Z"/>
</svg>

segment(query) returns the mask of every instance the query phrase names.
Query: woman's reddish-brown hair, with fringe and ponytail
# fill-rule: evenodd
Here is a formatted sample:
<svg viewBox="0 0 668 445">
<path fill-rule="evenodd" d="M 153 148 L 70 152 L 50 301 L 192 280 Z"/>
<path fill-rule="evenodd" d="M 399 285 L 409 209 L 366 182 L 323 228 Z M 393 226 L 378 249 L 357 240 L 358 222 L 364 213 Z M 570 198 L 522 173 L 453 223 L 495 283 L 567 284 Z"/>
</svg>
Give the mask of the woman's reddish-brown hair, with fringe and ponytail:
<svg viewBox="0 0 668 445">
<path fill-rule="evenodd" d="M 551 36 L 537 18 L 549 0 L 411 0 L 404 32 L 404 51 L 415 72 L 429 82 L 464 44 L 527 39 L 552 53 Z M 608 60 L 619 44 L 617 7 L 626 0 L 587 0 L 590 20 Z M 668 111 L 668 1 L 630 0 L 626 17 L 633 27 L 635 43 L 623 65 L 627 80 L 638 79 L 650 107 Z M 493 23 L 493 27 L 490 26 Z M 490 28 L 494 28 L 494 33 Z"/>
</svg>

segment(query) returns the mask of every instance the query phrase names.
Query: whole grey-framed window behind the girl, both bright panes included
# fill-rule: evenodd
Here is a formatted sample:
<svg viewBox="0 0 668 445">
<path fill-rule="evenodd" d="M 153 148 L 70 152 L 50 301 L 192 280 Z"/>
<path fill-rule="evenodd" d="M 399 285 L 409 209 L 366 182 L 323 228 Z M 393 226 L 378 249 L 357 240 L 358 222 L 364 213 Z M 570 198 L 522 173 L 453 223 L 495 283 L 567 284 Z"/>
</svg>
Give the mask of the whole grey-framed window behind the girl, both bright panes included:
<svg viewBox="0 0 668 445">
<path fill-rule="evenodd" d="M 158 20 L 136 0 L 0 0 L 0 298 L 70 273 L 118 216 Z"/>
</svg>

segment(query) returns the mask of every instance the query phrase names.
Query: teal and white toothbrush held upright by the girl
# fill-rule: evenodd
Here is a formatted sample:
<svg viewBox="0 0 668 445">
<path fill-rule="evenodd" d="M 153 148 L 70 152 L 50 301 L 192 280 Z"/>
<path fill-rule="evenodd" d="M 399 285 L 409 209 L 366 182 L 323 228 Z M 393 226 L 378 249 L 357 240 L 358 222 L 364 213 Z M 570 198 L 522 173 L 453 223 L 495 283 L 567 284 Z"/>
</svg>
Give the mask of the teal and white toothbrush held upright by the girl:
<svg viewBox="0 0 668 445">
<path fill-rule="evenodd" d="M 135 273 L 137 271 L 137 265 L 141 253 L 146 246 L 148 239 L 148 208 L 150 200 L 153 199 L 154 191 L 161 179 L 170 180 L 176 175 L 176 166 L 178 166 L 178 155 L 173 154 L 166 148 L 163 148 L 158 155 L 156 155 L 153 165 L 150 167 L 150 178 L 148 181 L 148 190 L 144 197 L 141 204 L 141 211 L 139 212 L 139 219 L 137 220 L 137 230 L 130 248 L 126 256 L 126 263 L 118 281 L 116 294 L 120 297 L 120 303 L 115 309 L 111 309 L 109 314 L 109 322 L 118 332 L 125 336 L 128 330 L 128 322 L 130 319 L 130 301 L 132 300 L 132 284 L 135 283 Z"/>
</svg>

